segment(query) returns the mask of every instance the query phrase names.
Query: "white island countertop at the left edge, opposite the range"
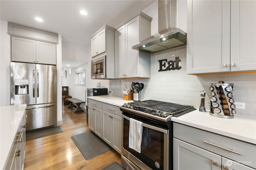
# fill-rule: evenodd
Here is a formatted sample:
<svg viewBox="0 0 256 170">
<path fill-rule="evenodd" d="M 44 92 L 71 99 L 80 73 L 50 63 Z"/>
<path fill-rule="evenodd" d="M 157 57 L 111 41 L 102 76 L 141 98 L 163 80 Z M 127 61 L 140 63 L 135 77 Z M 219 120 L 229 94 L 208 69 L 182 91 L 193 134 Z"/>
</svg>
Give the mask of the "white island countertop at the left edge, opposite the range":
<svg viewBox="0 0 256 170">
<path fill-rule="evenodd" d="M 23 118 L 26 104 L 0 106 L 0 169 L 4 168 L 9 151 L 20 122 Z"/>
</svg>

